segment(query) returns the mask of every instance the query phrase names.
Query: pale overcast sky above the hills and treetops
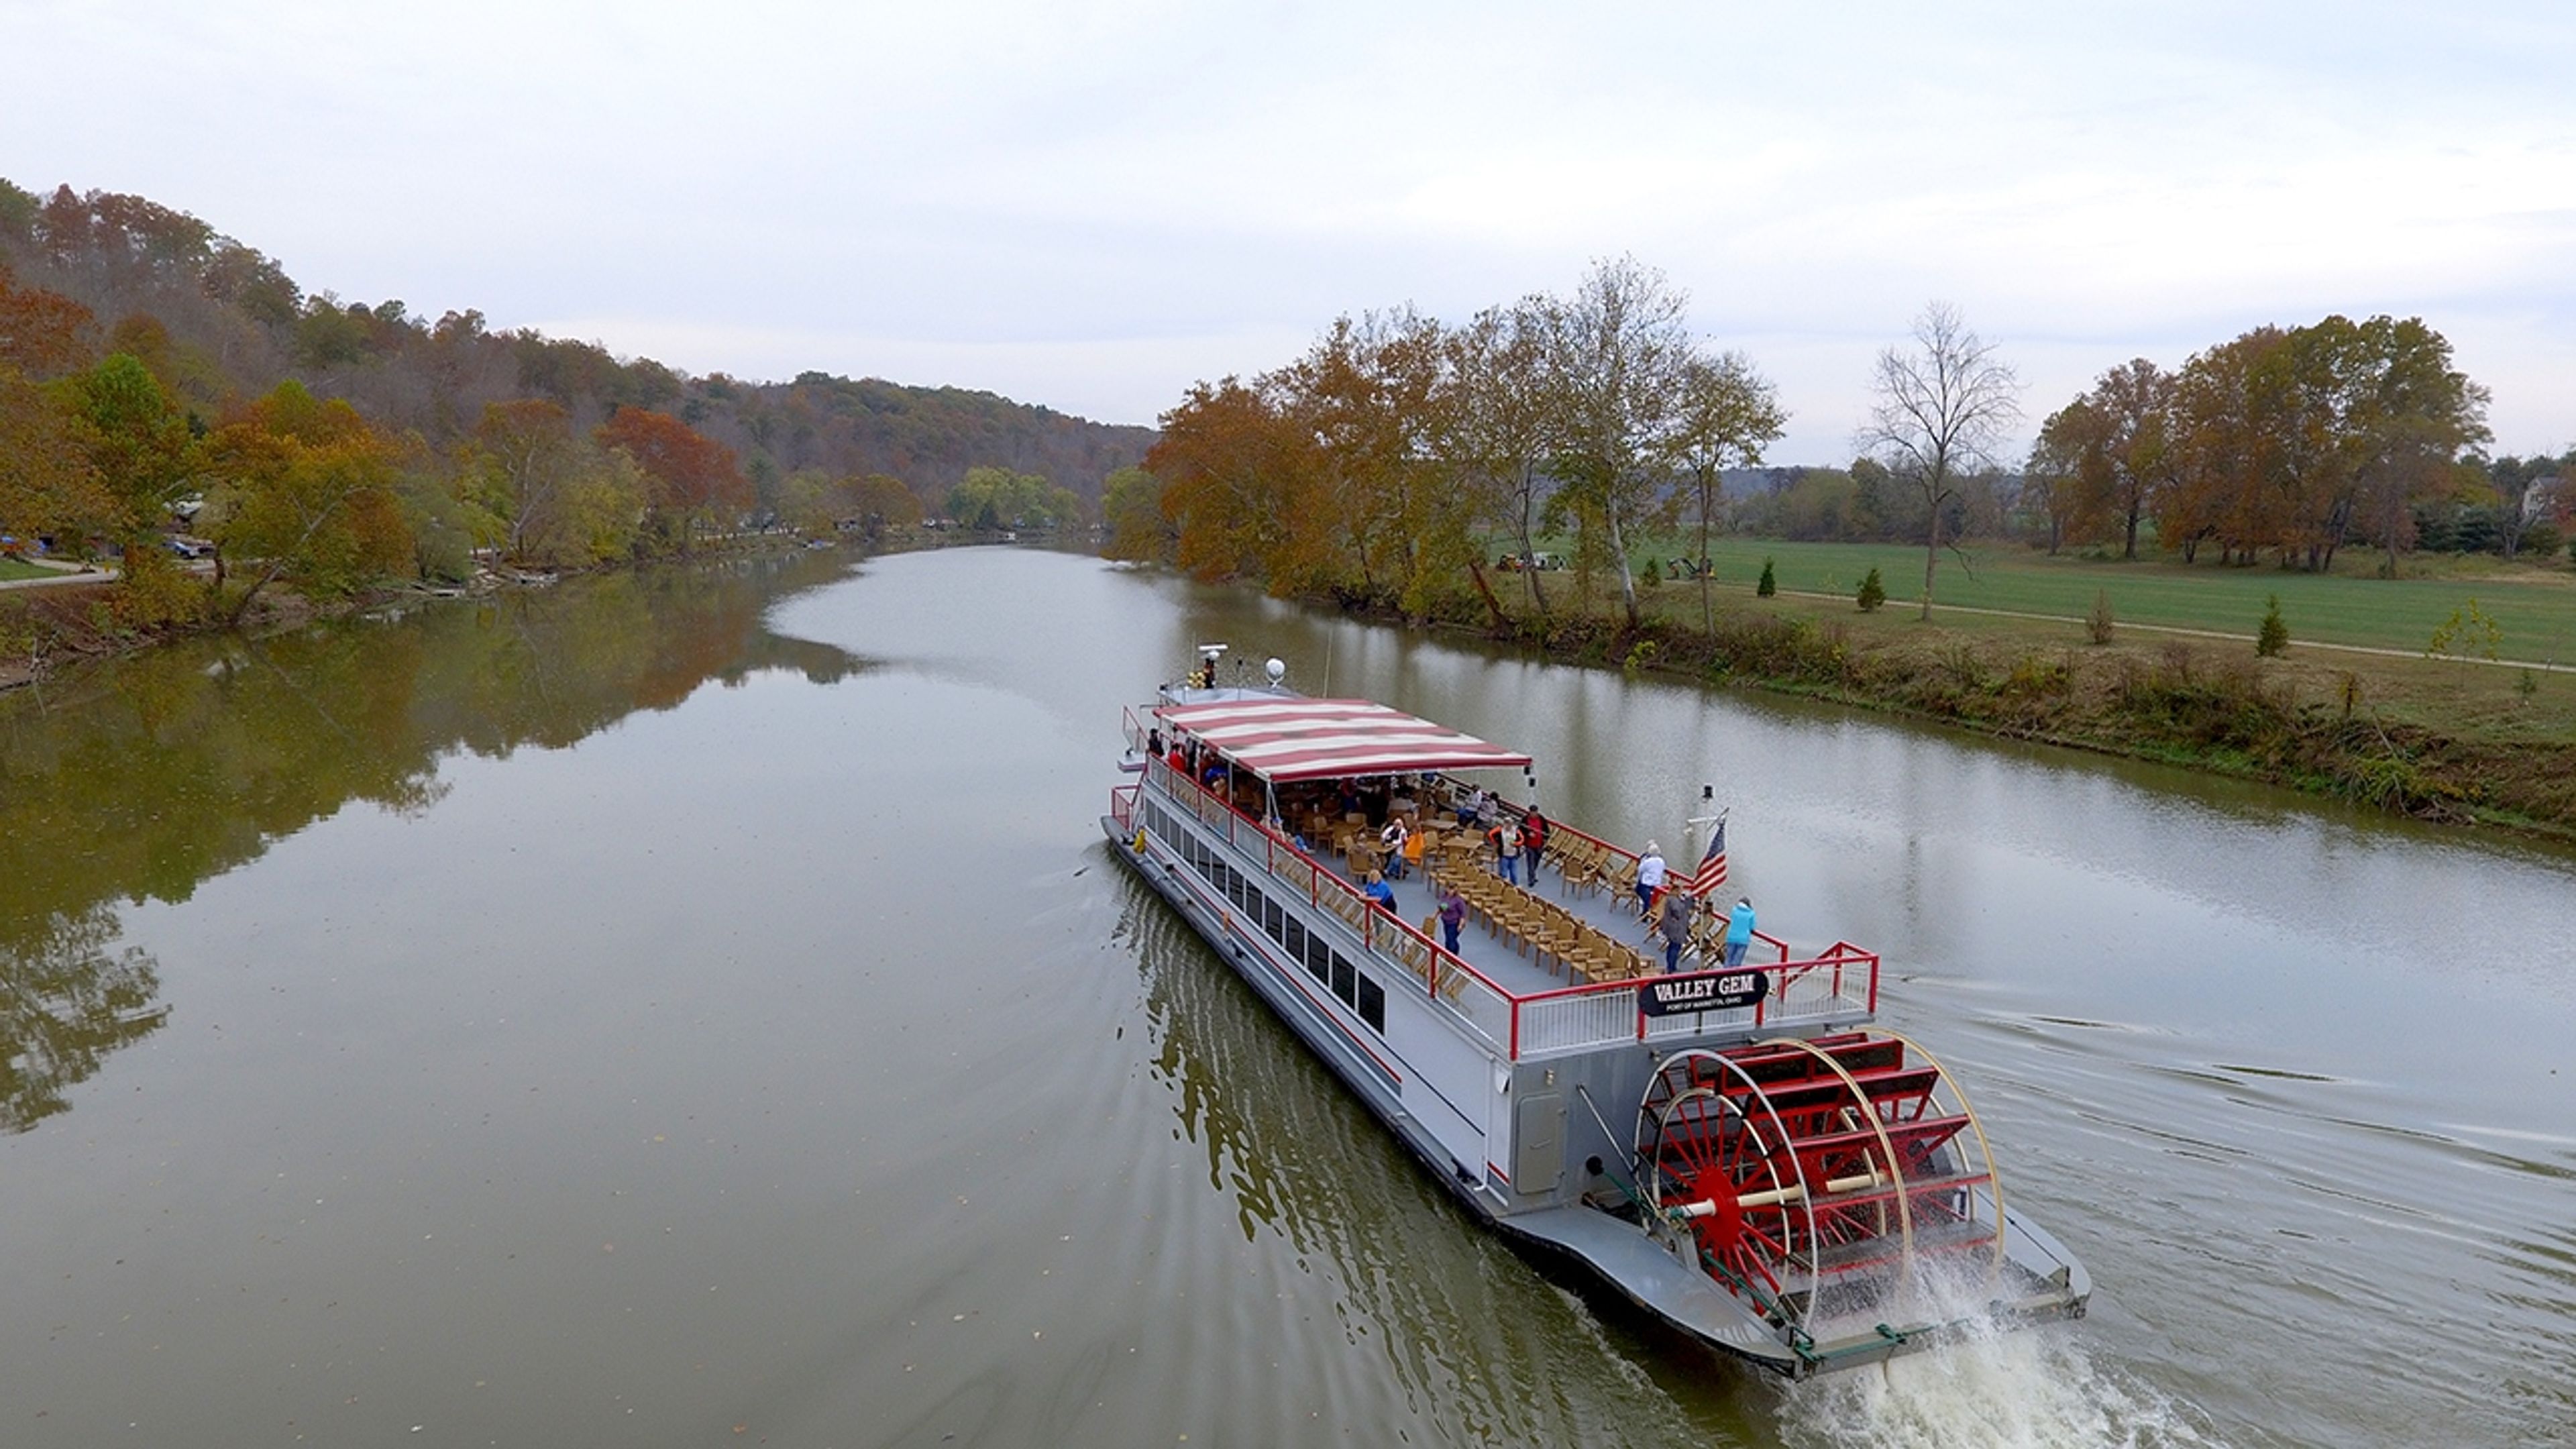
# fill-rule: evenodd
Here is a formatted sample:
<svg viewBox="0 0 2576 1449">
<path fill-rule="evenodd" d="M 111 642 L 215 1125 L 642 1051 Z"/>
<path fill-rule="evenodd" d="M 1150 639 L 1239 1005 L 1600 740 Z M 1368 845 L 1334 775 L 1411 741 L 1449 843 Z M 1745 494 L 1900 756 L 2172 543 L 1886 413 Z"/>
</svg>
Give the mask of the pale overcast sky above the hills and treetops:
<svg viewBox="0 0 2576 1449">
<path fill-rule="evenodd" d="M 2576 5 L 0 0 L 0 175 L 309 289 L 685 371 L 1151 423 L 1337 312 L 1636 253 L 1842 462 L 1958 304 L 2035 420 L 2130 356 L 2421 315 L 2576 443 Z M 2027 433 L 2030 428 L 2025 428 Z"/>
</svg>

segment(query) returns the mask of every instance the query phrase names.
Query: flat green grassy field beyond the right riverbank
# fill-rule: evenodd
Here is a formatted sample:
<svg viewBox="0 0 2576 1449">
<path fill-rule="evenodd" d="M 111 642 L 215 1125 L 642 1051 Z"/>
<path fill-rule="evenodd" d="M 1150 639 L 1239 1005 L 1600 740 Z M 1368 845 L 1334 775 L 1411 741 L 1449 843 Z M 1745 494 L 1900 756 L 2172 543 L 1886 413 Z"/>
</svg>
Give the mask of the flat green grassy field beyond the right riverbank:
<svg viewBox="0 0 2576 1449">
<path fill-rule="evenodd" d="M 1687 552 L 1682 539 L 1638 549 L 1669 565 Z M 1888 590 L 1886 614 L 1911 616 L 1922 598 L 1924 552 L 1906 544 L 1785 544 L 1765 539 L 1713 539 L 1718 598 L 1744 603 L 1762 559 L 1775 559 L 1783 590 L 1850 598 L 1860 578 L 1878 567 Z M 2002 608 L 2084 619 L 2094 593 L 2107 593 L 2123 624 L 2164 624 L 2254 637 L 2264 598 L 2280 596 L 2290 639 L 2365 645 L 2421 652 L 2432 632 L 2470 598 L 2504 629 L 2499 655 L 2535 663 L 2576 663 L 2576 570 L 2555 565 L 2504 565 L 2501 559 L 2406 559 L 2421 578 L 2372 578 L 2378 554 L 2339 559 L 2336 572 L 2308 575 L 2277 567 L 2215 567 L 2179 562 L 2115 562 L 2074 554 L 2045 557 L 2020 544 L 1971 544 L 1960 567 L 1942 554 L 1932 608 Z M 1551 575 L 1566 578 L 1566 575 Z M 1698 598 L 1698 580 L 1667 583 L 1672 596 Z M 1965 619 L 1950 616 L 1955 624 Z"/>
</svg>

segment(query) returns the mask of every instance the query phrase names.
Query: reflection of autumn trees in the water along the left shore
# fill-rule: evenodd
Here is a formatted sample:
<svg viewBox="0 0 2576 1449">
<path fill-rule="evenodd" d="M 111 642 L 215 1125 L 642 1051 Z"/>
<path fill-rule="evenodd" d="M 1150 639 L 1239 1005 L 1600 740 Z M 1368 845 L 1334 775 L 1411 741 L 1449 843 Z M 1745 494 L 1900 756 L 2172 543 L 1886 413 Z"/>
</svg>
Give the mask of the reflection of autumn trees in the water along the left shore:
<svg viewBox="0 0 2576 1449">
<path fill-rule="evenodd" d="M 706 681 L 860 663 L 765 611 L 842 562 L 760 557 L 569 580 L 268 639 L 201 639 L 0 699 L 0 1132 L 67 1109 L 152 1034 L 160 967 L 118 900 L 188 900 L 348 802 L 422 810 L 453 750 L 569 745 Z"/>
</svg>

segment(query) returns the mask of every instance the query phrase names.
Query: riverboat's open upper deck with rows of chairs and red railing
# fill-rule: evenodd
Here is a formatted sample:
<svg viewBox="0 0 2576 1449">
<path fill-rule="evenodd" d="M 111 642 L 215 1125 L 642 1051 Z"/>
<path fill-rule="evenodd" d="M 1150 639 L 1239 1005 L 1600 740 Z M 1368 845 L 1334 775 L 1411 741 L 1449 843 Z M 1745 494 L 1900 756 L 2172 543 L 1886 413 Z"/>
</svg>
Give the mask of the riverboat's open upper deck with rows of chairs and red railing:
<svg viewBox="0 0 2576 1449">
<path fill-rule="evenodd" d="M 1175 691 L 1177 694 L 1177 691 Z M 1190 691 L 1262 696 L 1267 691 Z M 1146 727 L 1128 714 L 1128 737 L 1144 755 Z M 1878 957 L 1834 941 L 1814 954 L 1798 954 L 1788 941 L 1757 933 L 1744 967 L 1713 969 L 1723 918 L 1708 913 L 1692 931 L 1692 946 L 1677 975 L 1662 975 L 1662 938 L 1649 938 L 1628 887 L 1636 856 L 1571 825 L 1548 825 L 1548 851 L 1538 890 L 1494 877 L 1492 856 L 1479 833 L 1458 830 L 1455 804 L 1463 789 L 1443 776 L 1419 779 L 1422 799 L 1414 815 L 1425 825 L 1422 869 L 1404 882 L 1388 882 L 1396 910 L 1360 895 L 1360 879 L 1376 866 L 1376 833 L 1358 822 L 1329 817 L 1311 802 L 1283 802 L 1262 781 L 1247 789 L 1242 779 L 1200 784 L 1162 758 L 1144 758 L 1144 779 L 1113 792 L 1110 812 L 1121 830 L 1136 828 L 1139 792 L 1154 792 L 1172 810 L 1193 815 L 1216 838 L 1239 851 L 1273 882 L 1265 895 L 1306 900 L 1342 918 L 1378 959 L 1404 969 L 1450 1013 L 1504 1060 L 1589 1052 L 1620 1042 L 1680 1044 L 1682 1039 L 1741 1042 L 1765 1034 L 1803 1034 L 1826 1026 L 1868 1021 L 1878 1008 Z M 1303 804 L 1303 807 L 1301 807 Z M 1288 820 L 1265 822 L 1273 810 Z M 1458 949 L 1437 941 L 1435 882 L 1453 882 L 1468 897 L 1468 926 Z M 1759 1000 L 1718 1011 L 1654 1013 L 1641 977 L 1659 982 L 1713 982 L 1759 972 L 1767 977 Z"/>
</svg>

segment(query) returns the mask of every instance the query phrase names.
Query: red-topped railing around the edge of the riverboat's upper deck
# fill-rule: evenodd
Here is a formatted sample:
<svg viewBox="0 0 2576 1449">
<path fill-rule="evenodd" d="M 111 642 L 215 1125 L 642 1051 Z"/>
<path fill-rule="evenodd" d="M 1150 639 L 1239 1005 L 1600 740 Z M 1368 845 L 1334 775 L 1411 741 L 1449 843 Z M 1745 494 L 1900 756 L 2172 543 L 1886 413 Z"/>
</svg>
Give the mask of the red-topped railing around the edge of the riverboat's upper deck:
<svg viewBox="0 0 2576 1449">
<path fill-rule="evenodd" d="M 1288 835 L 1234 810 L 1221 792 L 1188 781 L 1172 768 L 1170 761 L 1146 761 L 1144 773 L 1146 781 L 1159 781 L 1159 794 L 1164 799 L 1180 810 L 1195 812 L 1203 822 L 1221 830 L 1236 848 L 1255 853 L 1255 841 L 1247 835 L 1257 838 L 1257 853 L 1270 879 L 1288 884 L 1303 895 L 1309 905 L 1340 915 L 1360 936 L 1363 946 L 1401 964 L 1432 1000 L 1445 1003 L 1510 1060 L 1520 1060 L 1522 1052 L 1564 1052 L 1610 1042 L 1646 1042 L 1654 1036 L 1698 1034 L 1710 1024 L 1744 1024 L 1762 1029 L 1878 1011 L 1878 954 L 1862 951 L 1850 941 L 1834 941 L 1819 957 L 1793 962 L 1788 941 L 1765 931 L 1754 931 L 1754 938 L 1770 946 L 1775 959 L 1752 969 L 1770 975 L 1772 982 L 1754 1006 L 1656 1018 L 1638 1008 L 1638 980 L 1607 980 L 1520 995 L 1458 959 L 1396 913 L 1360 895 L 1358 887 L 1332 874 L 1332 869 L 1321 866 L 1306 851 L 1296 848 L 1296 841 Z M 1188 789 L 1180 789 L 1182 784 L 1188 784 Z M 1139 789 L 1144 789 L 1144 781 L 1123 784 L 1110 792 L 1110 817 L 1118 820 L 1121 830 L 1133 830 Z M 1620 851 L 1597 835 L 1556 825 L 1553 820 L 1548 822 L 1548 830 L 1569 830 L 1584 841 L 1595 841 L 1620 856 L 1628 856 L 1628 851 Z M 1628 859 L 1633 861 L 1636 856 Z M 1747 967 L 1734 969 L 1741 972 Z M 1726 969 L 1682 972 L 1677 977 L 1656 980 L 1692 980 L 1710 975 L 1726 975 Z M 1669 1021 L 1672 1026 L 1659 1031 L 1659 1021 Z"/>
</svg>

